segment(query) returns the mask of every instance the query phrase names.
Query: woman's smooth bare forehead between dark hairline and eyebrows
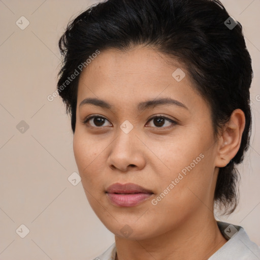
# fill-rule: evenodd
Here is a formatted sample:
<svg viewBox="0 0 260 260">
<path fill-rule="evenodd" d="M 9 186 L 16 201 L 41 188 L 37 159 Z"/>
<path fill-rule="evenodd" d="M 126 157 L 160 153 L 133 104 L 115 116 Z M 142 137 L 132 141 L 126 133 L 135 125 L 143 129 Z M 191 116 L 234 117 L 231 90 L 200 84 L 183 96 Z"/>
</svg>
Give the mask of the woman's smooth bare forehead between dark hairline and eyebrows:
<svg viewBox="0 0 260 260">
<path fill-rule="evenodd" d="M 183 73 L 181 81 L 173 76 L 177 69 Z M 147 47 L 125 52 L 101 51 L 80 76 L 78 104 L 88 97 L 128 106 L 144 100 L 172 98 L 189 103 L 188 107 L 201 99 L 183 64 L 172 59 L 170 63 L 166 55 Z"/>
</svg>

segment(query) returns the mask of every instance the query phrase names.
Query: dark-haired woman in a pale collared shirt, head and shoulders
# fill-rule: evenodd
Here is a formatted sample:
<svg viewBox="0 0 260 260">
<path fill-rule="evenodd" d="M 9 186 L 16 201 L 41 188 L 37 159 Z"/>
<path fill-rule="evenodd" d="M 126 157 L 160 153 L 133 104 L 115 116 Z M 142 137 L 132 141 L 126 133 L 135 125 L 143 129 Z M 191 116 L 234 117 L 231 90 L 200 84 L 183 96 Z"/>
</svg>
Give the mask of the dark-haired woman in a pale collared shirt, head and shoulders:
<svg viewBox="0 0 260 260">
<path fill-rule="evenodd" d="M 86 197 L 115 234 L 95 259 L 260 259 L 236 165 L 251 131 L 251 58 L 217 0 L 108 0 L 59 40 Z"/>
</svg>

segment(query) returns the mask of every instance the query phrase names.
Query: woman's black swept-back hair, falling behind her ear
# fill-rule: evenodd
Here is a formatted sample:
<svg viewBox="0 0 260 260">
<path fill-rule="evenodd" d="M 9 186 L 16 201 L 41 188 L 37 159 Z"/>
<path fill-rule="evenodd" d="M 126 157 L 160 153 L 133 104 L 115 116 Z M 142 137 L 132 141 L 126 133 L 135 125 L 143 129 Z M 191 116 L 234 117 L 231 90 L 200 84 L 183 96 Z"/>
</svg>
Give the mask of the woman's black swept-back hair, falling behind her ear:
<svg viewBox="0 0 260 260">
<path fill-rule="evenodd" d="M 236 164 L 248 150 L 252 120 L 249 88 L 253 72 L 242 25 L 230 18 L 218 0 L 108 0 L 94 4 L 70 21 L 59 39 L 62 66 L 57 88 L 97 49 L 128 51 L 139 45 L 184 63 L 194 88 L 210 105 L 215 138 L 235 109 L 244 112 L 240 148 L 230 163 L 219 169 L 214 193 L 215 206 L 231 214 L 239 199 Z M 71 115 L 73 133 L 79 78 L 59 91 Z"/>
</svg>

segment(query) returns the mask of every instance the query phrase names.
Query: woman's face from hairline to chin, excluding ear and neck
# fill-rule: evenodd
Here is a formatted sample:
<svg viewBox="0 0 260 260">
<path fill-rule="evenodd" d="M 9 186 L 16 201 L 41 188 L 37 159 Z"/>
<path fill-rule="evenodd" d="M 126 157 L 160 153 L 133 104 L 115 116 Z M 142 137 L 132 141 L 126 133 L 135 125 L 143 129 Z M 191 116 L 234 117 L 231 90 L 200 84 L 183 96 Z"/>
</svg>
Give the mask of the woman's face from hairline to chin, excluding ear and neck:
<svg viewBox="0 0 260 260">
<path fill-rule="evenodd" d="M 75 159 L 92 209 L 117 236 L 156 237 L 212 214 L 217 152 L 210 108 L 178 68 L 151 48 L 111 49 L 80 76 Z M 176 102 L 153 104 L 161 99 Z M 107 193 L 115 183 L 150 193 Z"/>
</svg>

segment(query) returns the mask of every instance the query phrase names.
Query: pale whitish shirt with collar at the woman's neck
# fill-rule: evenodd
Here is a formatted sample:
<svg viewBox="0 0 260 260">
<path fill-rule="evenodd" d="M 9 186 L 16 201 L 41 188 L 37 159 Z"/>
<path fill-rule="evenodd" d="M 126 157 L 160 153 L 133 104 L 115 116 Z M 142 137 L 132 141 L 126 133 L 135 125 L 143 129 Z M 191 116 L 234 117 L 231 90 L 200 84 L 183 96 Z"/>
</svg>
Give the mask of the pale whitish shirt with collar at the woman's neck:
<svg viewBox="0 0 260 260">
<path fill-rule="evenodd" d="M 217 221 L 218 228 L 228 241 L 208 260 L 260 260 L 260 247 L 252 242 L 242 226 Z M 115 260 L 116 244 L 93 260 Z"/>
</svg>

